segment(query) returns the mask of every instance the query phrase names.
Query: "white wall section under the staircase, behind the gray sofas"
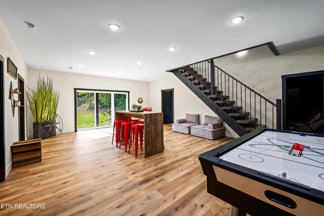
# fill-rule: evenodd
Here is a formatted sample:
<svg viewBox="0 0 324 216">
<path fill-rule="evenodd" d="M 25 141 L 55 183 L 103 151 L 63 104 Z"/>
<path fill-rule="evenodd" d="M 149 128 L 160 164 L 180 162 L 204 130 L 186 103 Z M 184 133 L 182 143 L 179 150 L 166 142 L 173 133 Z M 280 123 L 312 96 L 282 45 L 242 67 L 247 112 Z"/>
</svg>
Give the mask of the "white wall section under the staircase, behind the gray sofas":
<svg viewBox="0 0 324 216">
<path fill-rule="evenodd" d="M 186 113 L 199 114 L 199 123 L 204 124 L 205 115 L 217 116 L 203 101 L 201 101 L 172 73 L 169 73 L 168 76 L 163 79 L 150 82 L 150 103 L 154 111 L 161 112 L 161 90 L 173 88 L 174 120 L 183 119 Z M 224 122 L 222 124 L 226 128 L 226 136 L 238 137 L 238 135 Z"/>
</svg>

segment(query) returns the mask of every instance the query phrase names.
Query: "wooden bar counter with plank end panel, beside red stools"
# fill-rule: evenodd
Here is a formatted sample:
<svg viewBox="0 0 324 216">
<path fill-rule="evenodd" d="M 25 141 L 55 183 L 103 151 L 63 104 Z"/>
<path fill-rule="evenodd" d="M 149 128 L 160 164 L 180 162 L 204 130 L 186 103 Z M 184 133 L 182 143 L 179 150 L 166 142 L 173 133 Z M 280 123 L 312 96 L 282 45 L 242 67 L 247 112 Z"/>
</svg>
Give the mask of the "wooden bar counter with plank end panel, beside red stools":
<svg viewBox="0 0 324 216">
<path fill-rule="evenodd" d="M 144 158 L 163 152 L 163 113 L 116 111 L 115 117 L 125 121 L 132 117 L 144 119 Z"/>
</svg>

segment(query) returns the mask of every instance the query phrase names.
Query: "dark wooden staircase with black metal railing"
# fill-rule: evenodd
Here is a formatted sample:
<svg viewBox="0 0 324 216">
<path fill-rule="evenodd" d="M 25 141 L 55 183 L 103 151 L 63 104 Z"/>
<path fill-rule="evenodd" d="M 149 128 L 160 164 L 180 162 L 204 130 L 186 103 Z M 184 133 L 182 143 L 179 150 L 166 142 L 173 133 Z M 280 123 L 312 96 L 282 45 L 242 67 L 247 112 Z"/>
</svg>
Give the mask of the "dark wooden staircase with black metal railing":
<svg viewBox="0 0 324 216">
<path fill-rule="evenodd" d="M 168 71 L 239 136 L 269 125 L 273 128 L 276 104 L 217 67 L 213 59 Z"/>
</svg>

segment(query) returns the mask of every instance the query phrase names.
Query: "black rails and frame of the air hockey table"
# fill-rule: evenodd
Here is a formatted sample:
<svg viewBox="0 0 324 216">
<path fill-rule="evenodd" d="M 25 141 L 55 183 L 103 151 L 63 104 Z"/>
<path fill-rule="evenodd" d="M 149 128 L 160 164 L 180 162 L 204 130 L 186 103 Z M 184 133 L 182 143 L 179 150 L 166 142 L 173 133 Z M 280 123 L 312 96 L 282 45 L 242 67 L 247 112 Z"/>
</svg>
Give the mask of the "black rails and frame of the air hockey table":
<svg viewBox="0 0 324 216">
<path fill-rule="evenodd" d="M 305 200 L 309 200 L 315 205 L 319 204 L 321 209 L 319 211 L 324 212 L 324 192 L 311 189 L 307 190 L 303 187 L 299 187 L 298 185 L 293 185 L 285 181 L 280 181 L 280 179 L 265 176 L 260 174 L 258 170 L 250 169 L 244 166 L 240 166 L 238 164 L 230 163 L 228 161 L 224 161 L 218 157 L 226 154 L 234 148 L 237 148 L 242 143 L 249 141 L 250 139 L 258 136 L 264 131 L 274 131 L 274 132 L 287 132 L 287 133 L 296 133 L 293 131 L 283 131 L 283 130 L 275 130 L 275 129 L 258 129 L 249 134 L 241 136 L 237 139 L 234 139 L 223 146 L 220 146 L 216 149 L 208 151 L 198 156 L 201 167 L 203 169 L 204 174 L 207 176 L 207 191 L 208 193 L 224 200 L 225 202 L 235 206 L 241 212 L 249 213 L 251 215 L 294 215 L 296 213 L 289 213 L 287 208 L 278 207 L 277 205 L 269 204 L 269 202 L 264 202 L 254 196 L 251 196 L 247 193 L 244 193 L 240 190 L 237 190 L 233 187 L 230 187 L 227 184 L 224 184 L 221 181 L 218 181 L 221 176 L 217 176 L 215 174 L 215 170 L 217 168 L 229 171 L 234 173 L 237 177 L 242 176 L 244 178 L 251 179 L 252 182 L 265 184 L 271 188 L 278 189 L 283 192 L 287 192 L 292 194 L 292 196 L 298 196 Z M 316 135 L 320 137 L 324 137 L 321 134 L 306 134 L 306 135 Z M 253 188 L 253 185 L 246 185 L 246 187 Z M 260 193 L 265 193 L 262 191 Z M 271 202 L 270 202 L 271 203 Z"/>
</svg>

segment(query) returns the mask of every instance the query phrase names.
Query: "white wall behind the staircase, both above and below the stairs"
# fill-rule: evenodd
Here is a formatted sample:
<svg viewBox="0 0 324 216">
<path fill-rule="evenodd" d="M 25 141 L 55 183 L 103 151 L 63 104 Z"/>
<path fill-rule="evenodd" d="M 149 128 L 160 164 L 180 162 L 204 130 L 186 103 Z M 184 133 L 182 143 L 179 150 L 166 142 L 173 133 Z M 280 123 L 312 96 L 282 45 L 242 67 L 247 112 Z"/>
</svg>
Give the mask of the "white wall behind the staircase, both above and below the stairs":
<svg viewBox="0 0 324 216">
<path fill-rule="evenodd" d="M 215 64 L 255 91 L 258 91 L 259 87 L 264 87 L 264 91 L 259 93 L 275 103 L 276 99 L 281 99 L 282 96 L 281 75 L 324 70 L 323 59 L 324 45 L 278 56 L 274 56 L 267 47 L 261 47 L 246 56 L 238 57 L 234 54 L 216 59 Z M 164 79 L 150 82 L 150 102 L 154 110 L 161 111 L 161 90 L 172 88 L 175 89 L 175 120 L 183 118 L 186 113 L 199 114 L 201 124 L 204 122 L 205 115 L 216 115 L 172 73 Z M 233 99 L 235 100 L 235 98 Z M 237 102 L 240 105 L 239 99 Z M 267 104 L 267 112 L 272 113 L 270 104 Z M 262 114 L 262 118 L 264 118 L 264 113 Z M 258 112 L 256 117 L 259 118 Z M 270 121 L 269 118 L 270 114 L 267 116 L 267 125 L 271 127 L 272 119 Z M 264 119 L 262 123 L 264 124 Z M 226 136 L 238 137 L 226 124 L 223 123 L 223 125 L 226 128 Z M 274 118 L 274 128 L 275 126 Z"/>
</svg>

